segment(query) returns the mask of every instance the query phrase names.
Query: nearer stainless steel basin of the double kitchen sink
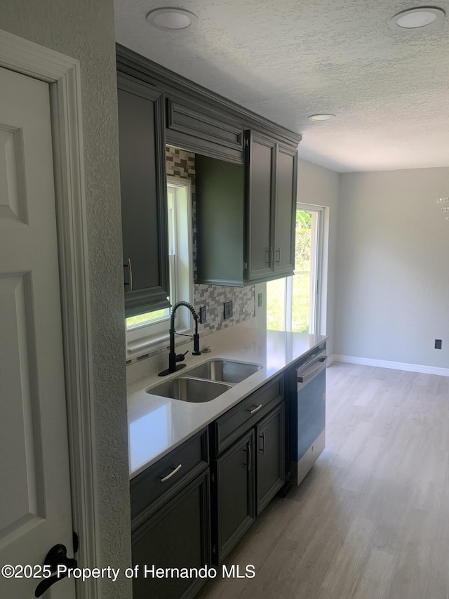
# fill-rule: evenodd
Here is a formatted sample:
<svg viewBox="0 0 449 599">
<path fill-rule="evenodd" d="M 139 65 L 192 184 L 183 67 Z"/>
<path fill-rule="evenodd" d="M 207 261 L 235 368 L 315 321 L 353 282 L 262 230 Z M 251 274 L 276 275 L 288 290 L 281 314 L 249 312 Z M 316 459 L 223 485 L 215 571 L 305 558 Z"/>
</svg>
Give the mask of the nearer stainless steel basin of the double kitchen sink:
<svg viewBox="0 0 449 599">
<path fill-rule="evenodd" d="M 215 397 L 225 393 L 230 388 L 231 385 L 225 383 L 178 376 L 177 379 L 171 379 L 171 381 L 147 389 L 147 393 L 161 397 L 171 397 L 173 400 L 181 400 L 182 402 L 201 403 L 215 400 Z"/>
</svg>

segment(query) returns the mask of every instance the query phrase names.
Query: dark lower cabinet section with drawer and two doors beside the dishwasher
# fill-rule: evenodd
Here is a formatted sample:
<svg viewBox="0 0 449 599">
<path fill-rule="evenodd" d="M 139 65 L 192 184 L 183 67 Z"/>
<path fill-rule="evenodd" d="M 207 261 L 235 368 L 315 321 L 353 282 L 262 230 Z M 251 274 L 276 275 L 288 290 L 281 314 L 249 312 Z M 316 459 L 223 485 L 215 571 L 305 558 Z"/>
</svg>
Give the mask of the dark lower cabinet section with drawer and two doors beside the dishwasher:
<svg viewBox="0 0 449 599">
<path fill-rule="evenodd" d="M 210 425 L 212 558 L 220 564 L 286 480 L 283 377 Z"/>
</svg>

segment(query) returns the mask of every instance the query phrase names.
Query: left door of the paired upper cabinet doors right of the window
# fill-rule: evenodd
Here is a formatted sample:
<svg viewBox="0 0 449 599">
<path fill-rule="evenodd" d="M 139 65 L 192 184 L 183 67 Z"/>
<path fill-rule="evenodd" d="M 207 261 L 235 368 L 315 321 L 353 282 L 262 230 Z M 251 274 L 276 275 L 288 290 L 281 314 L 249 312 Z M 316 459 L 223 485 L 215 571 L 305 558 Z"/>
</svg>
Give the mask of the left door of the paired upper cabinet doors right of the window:
<svg viewBox="0 0 449 599">
<path fill-rule="evenodd" d="M 246 279 L 274 275 L 276 143 L 246 131 Z"/>
</svg>

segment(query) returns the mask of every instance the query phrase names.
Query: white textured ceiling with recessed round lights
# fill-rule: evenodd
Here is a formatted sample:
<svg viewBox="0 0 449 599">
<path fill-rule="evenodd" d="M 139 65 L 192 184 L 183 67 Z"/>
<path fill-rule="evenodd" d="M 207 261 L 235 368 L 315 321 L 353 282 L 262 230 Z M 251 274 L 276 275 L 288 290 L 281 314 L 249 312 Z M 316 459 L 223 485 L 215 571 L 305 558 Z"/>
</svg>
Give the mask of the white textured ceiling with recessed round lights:
<svg viewBox="0 0 449 599">
<path fill-rule="evenodd" d="M 335 171 L 449 165 L 448 15 L 389 27 L 424 1 L 115 0 L 116 40 L 302 133 L 300 156 Z M 187 8 L 194 31 L 162 32 L 154 8 Z M 435 5 L 434 5 L 435 6 Z M 307 117 L 331 112 L 314 123 Z"/>
</svg>

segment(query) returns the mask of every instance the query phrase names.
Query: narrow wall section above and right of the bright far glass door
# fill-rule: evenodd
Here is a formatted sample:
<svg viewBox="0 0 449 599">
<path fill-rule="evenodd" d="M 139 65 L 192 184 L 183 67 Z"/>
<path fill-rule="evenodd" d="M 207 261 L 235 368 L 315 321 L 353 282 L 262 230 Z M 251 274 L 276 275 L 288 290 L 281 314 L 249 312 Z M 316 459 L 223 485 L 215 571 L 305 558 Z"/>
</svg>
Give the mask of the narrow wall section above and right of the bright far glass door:
<svg viewBox="0 0 449 599">
<path fill-rule="evenodd" d="M 329 335 L 328 355 L 335 353 L 335 255 L 337 248 L 337 216 L 339 211 L 339 174 L 307 160 L 299 160 L 297 201 L 326 206 L 323 256 L 322 334 Z"/>
</svg>

